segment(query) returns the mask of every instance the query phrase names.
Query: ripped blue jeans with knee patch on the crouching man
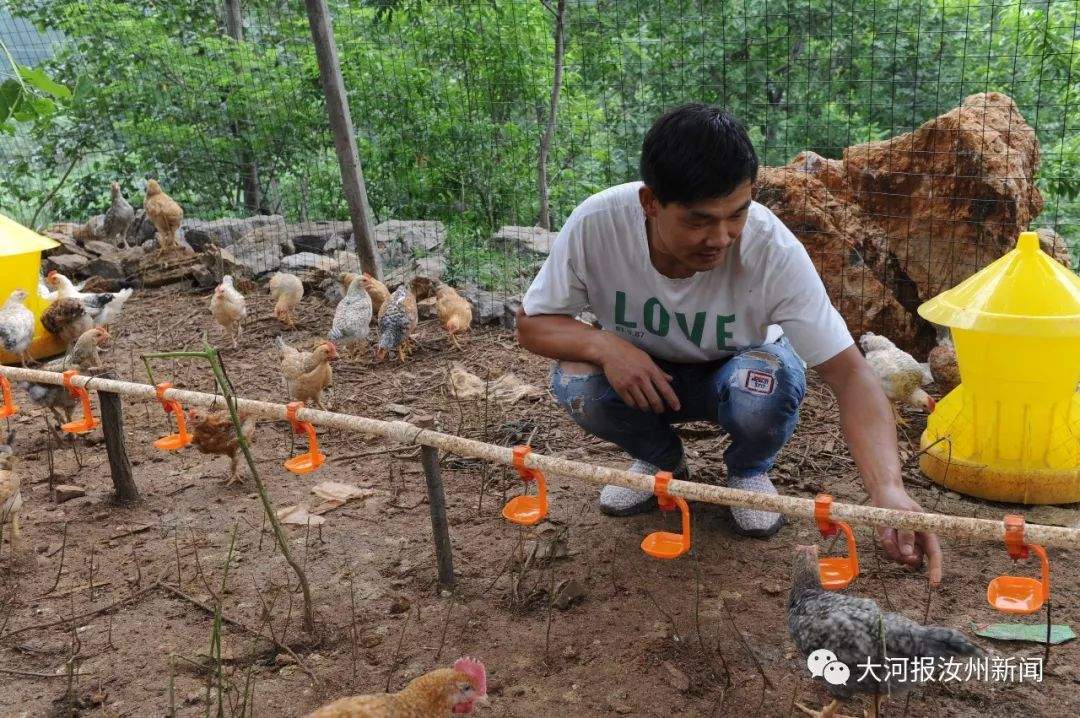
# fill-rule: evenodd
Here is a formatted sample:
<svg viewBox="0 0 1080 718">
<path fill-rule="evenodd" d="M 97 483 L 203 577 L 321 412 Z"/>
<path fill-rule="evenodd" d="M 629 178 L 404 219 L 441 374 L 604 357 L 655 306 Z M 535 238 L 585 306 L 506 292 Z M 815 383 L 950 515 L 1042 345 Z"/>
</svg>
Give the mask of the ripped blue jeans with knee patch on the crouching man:
<svg viewBox="0 0 1080 718">
<path fill-rule="evenodd" d="M 653 361 L 674 377 L 678 411 L 653 414 L 627 406 L 599 369 L 572 374 L 561 363 L 552 368 L 552 392 L 586 432 L 662 470 L 673 471 L 683 460 L 683 442 L 672 424 L 684 421 L 708 421 L 728 432 L 728 475 L 754 476 L 772 468 L 795 431 L 806 394 L 802 361 L 786 339 L 719 362 Z"/>
</svg>

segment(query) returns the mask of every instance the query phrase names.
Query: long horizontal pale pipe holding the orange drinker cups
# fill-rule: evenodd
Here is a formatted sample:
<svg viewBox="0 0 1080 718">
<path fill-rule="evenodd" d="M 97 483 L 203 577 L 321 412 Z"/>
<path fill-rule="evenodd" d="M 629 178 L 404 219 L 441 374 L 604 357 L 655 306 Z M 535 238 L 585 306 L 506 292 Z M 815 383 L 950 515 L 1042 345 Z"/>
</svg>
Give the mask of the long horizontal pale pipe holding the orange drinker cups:
<svg viewBox="0 0 1080 718">
<path fill-rule="evenodd" d="M 0 367 L 0 372 L 11 380 L 32 381 L 43 384 L 64 383 L 63 376 L 55 371 L 3 366 Z M 116 379 L 100 379 L 90 376 L 77 376 L 72 379 L 72 383 L 89 390 L 111 392 L 133 398 L 157 401 L 157 390 L 150 384 L 139 384 Z M 170 389 L 165 391 L 164 396 L 165 398 L 176 399 L 189 406 L 207 408 L 225 407 L 225 399 L 221 396 L 204 392 Z M 237 407 L 251 415 L 266 419 L 287 420 L 284 404 L 238 398 Z M 431 446 L 462 457 L 513 465 L 513 450 L 509 447 L 496 446 L 454 434 L 444 434 L 431 429 L 421 429 L 406 421 L 381 421 L 379 419 L 368 419 L 367 417 L 311 408 L 300 409 L 297 412 L 297 418 L 318 426 L 354 431 L 367 434 L 368 436 L 381 436 L 403 444 Z M 647 474 L 635 474 L 619 469 L 608 469 L 581 461 L 549 457 L 535 451 L 525 458 L 525 464 L 530 469 L 539 469 L 549 474 L 569 476 L 593 484 L 615 484 L 642 491 L 652 491 L 653 477 Z M 669 486 L 669 493 L 683 497 L 688 501 L 759 509 L 813 520 L 813 499 L 765 495 L 724 486 L 683 480 L 673 480 Z M 982 539 L 991 542 L 1001 541 L 1003 543 L 1004 541 L 1003 521 L 987 518 L 968 518 L 964 516 L 948 516 L 946 514 L 932 514 L 928 512 L 896 511 L 894 509 L 879 509 L 876 506 L 861 506 L 838 502 L 833 503 L 831 516 L 836 520 L 859 526 L 930 531 L 941 536 Z M 1080 547 L 1080 530 L 1078 529 L 1027 524 L 1024 536 L 1028 543 Z"/>
</svg>

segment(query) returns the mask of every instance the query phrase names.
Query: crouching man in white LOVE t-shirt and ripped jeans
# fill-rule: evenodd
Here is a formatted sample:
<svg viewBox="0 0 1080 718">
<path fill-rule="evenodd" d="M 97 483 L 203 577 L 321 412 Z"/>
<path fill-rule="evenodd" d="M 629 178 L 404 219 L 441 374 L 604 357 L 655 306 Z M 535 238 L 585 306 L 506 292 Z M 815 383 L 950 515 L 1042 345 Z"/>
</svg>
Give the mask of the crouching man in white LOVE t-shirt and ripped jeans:
<svg viewBox="0 0 1080 718">
<path fill-rule="evenodd" d="M 836 394 L 845 437 L 876 506 L 919 511 L 904 489 L 892 408 L 854 347 L 802 244 L 751 199 L 758 161 L 723 110 L 688 105 L 645 137 L 642 180 L 606 189 L 567 219 L 517 316 L 518 342 L 556 361 L 552 391 L 586 432 L 634 462 L 690 479 L 674 423 L 708 421 L 731 438 L 727 485 L 775 493 L 812 367 Z M 573 317 L 590 307 L 603 328 Z M 599 509 L 629 516 L 651 493 L 607 486 Z M 732 509 L 737 532 L 766 538 L 782 516 Z M 933 534 L 882 529 L 888 555 L 926 556 Z"/>
</svg>

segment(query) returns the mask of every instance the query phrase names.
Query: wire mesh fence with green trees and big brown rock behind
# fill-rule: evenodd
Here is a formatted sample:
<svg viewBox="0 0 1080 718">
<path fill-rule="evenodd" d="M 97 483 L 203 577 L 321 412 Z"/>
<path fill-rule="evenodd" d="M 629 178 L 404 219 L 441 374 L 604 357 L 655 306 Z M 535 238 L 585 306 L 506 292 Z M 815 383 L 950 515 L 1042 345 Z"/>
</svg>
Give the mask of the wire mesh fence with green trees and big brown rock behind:
<svg viewBox="0 0 1080 718">
<path fill-rule="evenodd" d="M 1021 229 L 1043 228 L 1080 266 L 1077 0 L 330 9 L 384 268 L 474 288 L 492 321 L 553 236 L 528 228 L 557 230 L 592 192 L 635 179 L 645 131 L 685 101 L 747 126 L 769 166 L 757 199 L 807 245 L 853 331 L 931 341 L 918 303 Z M 109 182 L 138 207 L 156 177 L 197 250 L 220 245 L 254 275 L 357 269 L 303 3 L 3 12 L 9 64 L 71 91 L 33 90 L 54 111 L 8 119 L 5 214 L 91 222 L 97 239 Z"/>
</svg>

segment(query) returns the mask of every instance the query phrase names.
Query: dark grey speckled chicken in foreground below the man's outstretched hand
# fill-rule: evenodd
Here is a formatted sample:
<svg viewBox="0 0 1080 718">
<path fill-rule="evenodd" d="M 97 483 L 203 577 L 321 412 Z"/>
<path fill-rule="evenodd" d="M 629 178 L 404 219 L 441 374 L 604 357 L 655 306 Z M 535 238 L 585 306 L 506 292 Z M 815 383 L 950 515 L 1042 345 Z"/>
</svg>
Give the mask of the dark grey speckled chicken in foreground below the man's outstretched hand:
<svg viewBox="0 0 1080 718">
<path fill-rule="evenodd" d="M 832 704 L 821 712 L 799 704 L 804 712 L 819 718 L 835 716 L 840 701 L 856 692 L 875 696 L 872 715 L 876 715 L 882 694 L 900 693 L 918 685 L 918 672 L 912 672 L 909 680 L 903 682 L 899 680 L 902 676 L 890 674 L 886 656 L 906 659 L 913 665 L 914 659 L 936 662 L 984 653 L 959 631 L 919 625 L 899 613 L 883 613 L 869 598 L 825 591 L 818 568 L 818 546 L 795 547 L 787 631 L 802 658 L 815 651 L 831 651 L 836 661 L 848 667 L 846 681 L 826 686 L 834 697 Z M 863 668 L 859 668 L 860 664 Z M 870 672 L 866 668 L 868 664 L 883 668 Z"/>
</svg>

